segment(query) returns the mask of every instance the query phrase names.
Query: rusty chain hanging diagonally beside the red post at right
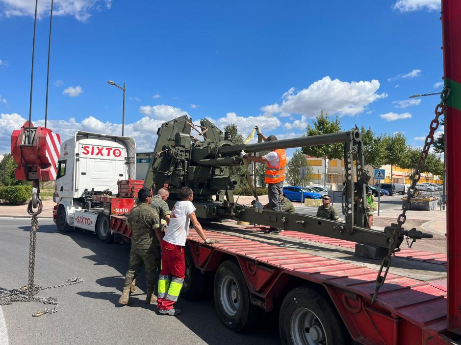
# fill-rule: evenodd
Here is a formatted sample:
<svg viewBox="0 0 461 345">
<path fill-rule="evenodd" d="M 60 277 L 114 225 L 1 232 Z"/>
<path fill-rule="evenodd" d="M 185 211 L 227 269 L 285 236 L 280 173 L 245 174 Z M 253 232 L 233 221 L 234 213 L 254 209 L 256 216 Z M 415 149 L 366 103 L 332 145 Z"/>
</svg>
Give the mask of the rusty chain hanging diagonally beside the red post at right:
<svg viewBox="0 0 461 345">
<path fill-rule="evenodd" d="M 379 289 L 381 286 L 383 286 L 384 281 L 386 279 L 387 272 L 389 271 L 389 267 L 390 267 L 391 255 L 393 253 L 400 251 L 399 246 L 401 243 L 400 237 L 401 237 L 401 232 L 402 232 L 402 226 L 405 224 L 405 221 L 407 220 L 407 216 L 405 213 L 410 208 L 411 198 L 414 198 L 414 194 L 416 192 L 416 184 L 419 182 L 419 179 L 421 178 L 421 172 L 424 169 L 426 158 L 429 155 L 429 148 L 434 142 L 434 134 L 440 124 L 438 118 L 440 117 L 440 115 L 443 115 L 445 113 L 446 101 L 449 95 L 450 95 L 450 90 L 445 86 L 443 91 L 440 94 L 440 102 L 435 106 L 435 111 L 434 111 L 435 117 L 431 121 L 431 124 L 429 125 L 429 134 L 427 135 L 426 140 L 424 140 L 424 146 L 419 155 L 418 165 L 416 166 L 416 168 L 411 174 L 411 177 L 410 177 L 411 185 L 410 185 L 410 188 L 408 188 L 407 199 L 403 202 L 402 213 L 397 218 L 397 227 L 393 229 L 392 238 L 389 239 L 387 255 L 384 257 L 383 262 L 381 263 L 381 267 L 378 272 L 378 276 L 376 277 L 375 292 L 371 300 L 372 304 L 375 302 L 376 297 L 378 296 Z M 407 241 L 407 245 L 411 247 L 411 245 L 414 242 L 414 239 L 410 244 L 408 241 L 408 236 L 406 236 L 406 241 Z M 382 275 L 384 269 L 385 269 L 384 275 Z"/>
</svg>

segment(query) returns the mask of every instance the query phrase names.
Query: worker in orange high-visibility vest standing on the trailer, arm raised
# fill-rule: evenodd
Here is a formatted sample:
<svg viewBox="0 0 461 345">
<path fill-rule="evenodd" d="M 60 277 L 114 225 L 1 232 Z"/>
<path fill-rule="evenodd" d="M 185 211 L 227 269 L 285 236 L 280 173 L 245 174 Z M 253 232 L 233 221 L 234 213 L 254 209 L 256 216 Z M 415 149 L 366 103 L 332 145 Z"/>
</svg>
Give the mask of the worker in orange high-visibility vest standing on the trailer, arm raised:
<svg viewBox="0 0 461 345">
<path fill-rule="evenodd" d="M 259 127 L 256 127 L 257 135 L 261 136 L 264 141 L 276 141 L 277 137 L 271 135 L 266 137 L 261 133 Z M 268 184 L 267 190 L 269 194 L 269 208 L 274 211 L 283 211 L 280 205 L 280 195 L 282 194 L 283 181 L 285 180 L 286 168 L 286 152 L 284 149 L 278 149 L 269 152 L 265 156 L 256 157 L 246 154 L 242 151 L 240 154 L 242 158 L 249 161 L 256 161 L 256 163 L 266 163 L 266 172 L 264 183 Z M 280 229 L 270 228 L 267 233 L 279 233 Z"/>
</svg>

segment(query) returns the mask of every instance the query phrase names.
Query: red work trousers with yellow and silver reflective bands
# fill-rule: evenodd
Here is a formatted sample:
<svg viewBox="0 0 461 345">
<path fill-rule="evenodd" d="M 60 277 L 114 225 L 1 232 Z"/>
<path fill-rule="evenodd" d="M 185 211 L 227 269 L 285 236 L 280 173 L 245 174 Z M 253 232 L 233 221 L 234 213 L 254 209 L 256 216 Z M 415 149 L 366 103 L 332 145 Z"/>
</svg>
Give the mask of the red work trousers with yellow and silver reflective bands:
<svg viewBox="0 0 461 345">
<path fill-rule="evenodd" d="M 158 277 L 157 308 L 169 310 L 178 300 L 186 272 L 184 247 L 161 242 L 162 263 Z"/>
</svg>

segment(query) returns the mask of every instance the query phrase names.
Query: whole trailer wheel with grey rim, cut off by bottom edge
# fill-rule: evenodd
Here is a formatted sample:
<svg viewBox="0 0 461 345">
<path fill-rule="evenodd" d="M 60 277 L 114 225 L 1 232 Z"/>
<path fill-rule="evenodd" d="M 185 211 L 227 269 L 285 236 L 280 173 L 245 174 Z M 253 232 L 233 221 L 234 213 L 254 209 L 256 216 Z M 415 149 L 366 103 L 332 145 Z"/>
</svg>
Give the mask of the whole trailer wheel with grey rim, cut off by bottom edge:
<svg viewBox="0 0 461 345">
<path fill-rule="evenodd" d="M 349 335 L 331 301 L 307 286 L 291 290 L 279 314 L 283 345 L 346 345 Z"/>
</svg>

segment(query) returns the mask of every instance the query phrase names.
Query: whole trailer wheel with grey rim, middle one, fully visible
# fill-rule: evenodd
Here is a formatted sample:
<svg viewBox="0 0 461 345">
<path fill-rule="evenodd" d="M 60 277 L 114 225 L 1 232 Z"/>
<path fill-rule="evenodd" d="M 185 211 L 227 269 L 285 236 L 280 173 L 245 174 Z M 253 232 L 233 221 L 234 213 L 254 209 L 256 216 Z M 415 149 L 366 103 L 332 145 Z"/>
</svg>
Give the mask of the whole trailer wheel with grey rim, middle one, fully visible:
<svg viewBox="0 0 461 345">
<path fill-rule="evenodd" d="M 213 295 L 221 321 L 235 332 L 251 329 L 262 314 L 259 307 L 251 304 L 245 277 L 232 261 L 218 267 Z"/>
</svg>

